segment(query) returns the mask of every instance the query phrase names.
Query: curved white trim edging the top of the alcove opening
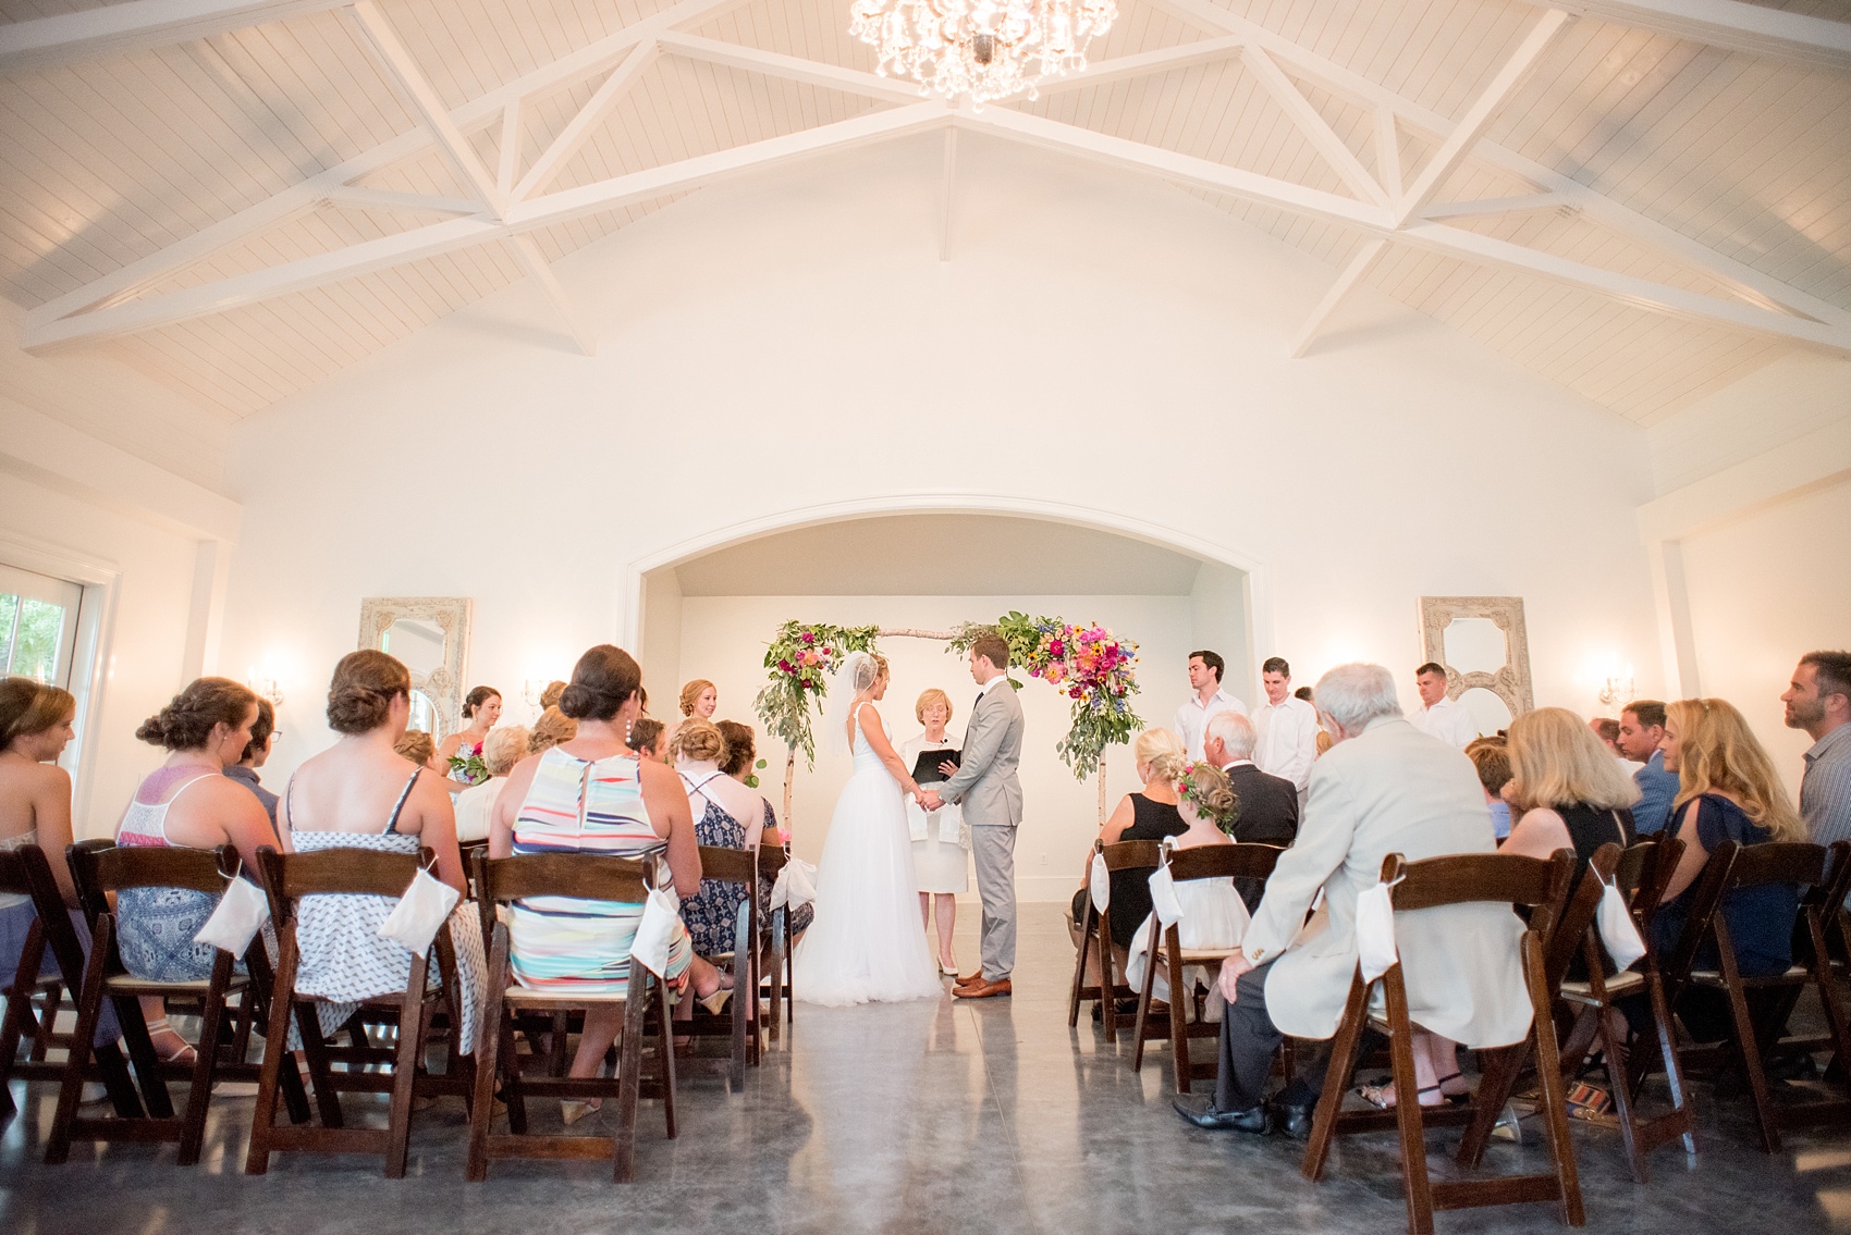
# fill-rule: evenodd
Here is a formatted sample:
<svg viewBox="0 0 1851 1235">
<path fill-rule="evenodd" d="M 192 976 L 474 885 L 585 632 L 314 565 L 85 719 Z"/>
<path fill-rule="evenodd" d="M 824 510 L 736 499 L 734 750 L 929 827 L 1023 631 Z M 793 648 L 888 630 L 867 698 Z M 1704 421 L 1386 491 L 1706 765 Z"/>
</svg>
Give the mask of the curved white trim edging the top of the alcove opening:
<svg viewBox="0 0 1851 1235">
<path fill-rule="evenodd" d="M 926 494 L 879 494 L 870 497 L 850 497 L 842 501 L 814 503 L 774 510 L 739 523 L 677 540 L 655 553 L 631 558 L 624 566 L 622 595 L 618 612 L 624 616 L 618 642 L 626 647 L 640 647 L 642 629 L 642 586 L 644 575 L 681 562 L 690 562 L 714 549 L 727 549 L 748 540 L 772 536 L 776 532 L 816 527 L 822 523 L 846 523 L 851 520 L 881 518 L 892 514 L 1005 514 L 1025 520 L 1044 520 L 1050 523 L 1070 523 L 1105 532 L 1116 532 L 1131 540 L 1186 553 L 1203 562 L 1220 562 L 1244 571 L 1248 577 L 1248 630 L 1253 647 L 1272 647 L 1273 619 L 1272 601 L 1266 590 L 1266 564 L 1253 553 L 1235 549 L 1225 544 L 1207 540 L 1194 532 L 1185 532 L 1162 523 L 1151 523 L 1118 510 L 1099 507 L 1077 507 L 1064 501 L 1040 497 L 1022 497 L 1018 494 L 981 494 L 981 492 L 926 492 Z"/>
</svg>

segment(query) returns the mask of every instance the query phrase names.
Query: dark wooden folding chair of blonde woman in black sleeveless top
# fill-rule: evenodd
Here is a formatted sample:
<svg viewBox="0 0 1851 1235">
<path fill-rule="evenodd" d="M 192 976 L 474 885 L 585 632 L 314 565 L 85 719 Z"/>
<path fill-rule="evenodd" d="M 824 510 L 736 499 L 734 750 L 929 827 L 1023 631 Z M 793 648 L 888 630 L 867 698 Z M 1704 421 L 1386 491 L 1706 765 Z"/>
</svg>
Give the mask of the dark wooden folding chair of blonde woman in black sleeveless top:
<svg viewBox="0 0 1851 1235">
<path fill-rule="evenodd" d="M 1683 1139 L 1686 1154 L 1697 1152 L 1696 1111 L 1690 1106 L 1690 1091 L 1677 1061 L 1671 1009 L 1664 1000 L 1658 956 L 1651 943 L 1651 919 L 1664 900 L 1664 889 L 1670 886 L 1683 854 L 1684 843 L 1675 836 L 1640 841 L 1631 849 L 1603 845 L 1596 850 L 1594 858 L 1588 860 L 1590 878 L 1612 884 L 1627 899 L 1633 923 L 1646 943 L 1646 956 L 1631 969 L 1607 976 L 1607 952 L 1601 947 L 1599 932 L 1590 924 L 1583 935 L 1588 978 L 1586 982 L 1562 982 L 1560 989 L 1560 1006 L 1573 1019 L 1573 1028 L 1562 1046 L 1562 1076 L 1577 1076 L 1588 1056 L 1596 1050 L 1601 1052 L 1627 1167 L 1636 1183 L 1647 1181 L 1646 1156 L 1660 1144 Z M 1627 1050 L 1631 1033 L 1620 1000 L 1633 997 L 1646 997 L 1651 1006 L 1653 1041 L 1644 1052 Z M 1638 1065 L 1651 1059 L 1664 1065 L 1671 1109 L 1646 1119 L 1638 1113 L 1646 1069 Z"/>
</svg>

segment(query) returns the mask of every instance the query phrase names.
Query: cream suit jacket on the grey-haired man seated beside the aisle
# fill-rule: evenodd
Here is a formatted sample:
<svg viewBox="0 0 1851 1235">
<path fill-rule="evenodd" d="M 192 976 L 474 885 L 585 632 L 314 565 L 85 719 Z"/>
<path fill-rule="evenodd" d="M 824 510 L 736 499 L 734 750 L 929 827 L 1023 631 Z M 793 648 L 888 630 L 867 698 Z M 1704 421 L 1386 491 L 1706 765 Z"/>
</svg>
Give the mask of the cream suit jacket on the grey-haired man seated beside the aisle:
<svg viewBox="0 0 1851 1235">
<path fill-rule="evenodd" d="M 1357 972 L 1357 895 L 1383 858 L 1497 849 L 1472 760 L 1401 717 L 1377 717 L 1311 769 L 1298 839 L 1253 913 L 1242 950 L 1266 974 L 1266 1011 L 1290 1037 L 1331 1037 Z M 1305 923 L 1318 889 L 1323 906 Z M 1466 1046 L 1529 1032 L 1529 995 L 1510 906 L 1453 904 L 1394 915 L 1409 1019 Z M 1381 987 L 1377 987 L 1377 1000 Z"/>
</svg>

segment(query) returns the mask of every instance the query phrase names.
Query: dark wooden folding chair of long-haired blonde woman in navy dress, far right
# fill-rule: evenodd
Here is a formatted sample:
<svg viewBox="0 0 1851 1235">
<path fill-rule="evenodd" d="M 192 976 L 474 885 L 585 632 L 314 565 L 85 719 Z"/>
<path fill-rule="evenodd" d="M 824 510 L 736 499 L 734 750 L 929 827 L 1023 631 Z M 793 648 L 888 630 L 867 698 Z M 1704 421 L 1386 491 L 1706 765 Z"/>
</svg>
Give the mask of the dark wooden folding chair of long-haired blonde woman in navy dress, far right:
<svg viewBox="0 0 1851 1235">
<path fill-rule="evenodd" d="M 1718 867 L 1712 878 L 1708 867 Z M 1783 1039 L 1786 1019 L 1799 1002 L 1799 995 L 1812 987 L 1818 991 L 1820 1006 L 1831 1033 L 1838 1059 L 1851 1059 L 1851 1022 L 1845 1017 L 1844 998 L 1838 993 L 1838 980 L 1831 965 L 1827 945 L 1827 919 L 1831 906 L 1825 904 L 1832 882 L 1827 871 L 1827 852 L 1820 845 L 1768 843 L 1736 845 L 1723 841 L 1710 854 L 1705 869 L 1705 887 L 1699 884 L 1697 900 L 1705 895 L 1708 906 L 1694 904 L 1684 924 L 1684 934 L 1677 943 L 1675 961 L 1681 967 L 1666 974 L 1666 998 L 1677 1008 L 1679 997 L 1686 989 L 1710 989 L 1725 997 L 1729 1015 L 1734 1022 L 1734 1035 L 1729 1054 L 1740 1065 L 1747 1080 L 1749 1098 L 1755 1104 L 1755 1122 L 1760 1130 L 1760 1144 L 1770 1154 L 1781 1152 L 1781 1128 L 1805 1128 L 1823 1122 L 1838 1122 L 1851 1117 L 1851 1096 L 1825 1098 L 1816 1102 L 1775 1104 L 1768 1085 L 1766 1054 L 1775 1046 L 1807 1045 L 1805 1039 Z M 1794 950 L 1794 963 L 1779 974 L 1744 976 L 1736 960 L 1734 941 L 1729 934 L 1729 899 L 1751 887 L 1790 884 L 1801 889 L 1801 908 L 1795 934 L 1801 947 Z M 1707 930 L 1697 934 L 1697 908 L 1708 908 Z M 1716 945 L 1718 969 L 1696 969 L 1694 958 L 1705 939 Z M 1686 1048 L 1684 1061 L 1714 1058 L 1708 1048 Z"/>
</svg>

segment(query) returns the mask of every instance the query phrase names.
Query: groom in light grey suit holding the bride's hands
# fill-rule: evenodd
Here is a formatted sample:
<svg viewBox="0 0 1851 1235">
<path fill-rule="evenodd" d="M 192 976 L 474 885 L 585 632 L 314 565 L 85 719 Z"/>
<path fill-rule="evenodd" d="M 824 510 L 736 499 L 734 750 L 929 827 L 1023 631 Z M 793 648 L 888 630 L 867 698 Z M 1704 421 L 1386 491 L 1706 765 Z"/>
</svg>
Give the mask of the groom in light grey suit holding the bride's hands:
<svg viewBox="0 0 1851 1235">
<path fill-rule="evenodd" d="M 970 850 L 977 860 L 977 895 L 983 897 L 983 969 L 957 980 L 957 998 L 1009 995 L 1016 967 L 1016 825 L 1022 823 L 1022 703 L 1003 677 L 1009 643 L 985 634 L 970 645 L 970 677 L 977 706 L 964 728 L 963 765 L 946 760 L 950 776 L 937 791 L 920 795 L 926 810 L 961 802 L 970 825 Z"/>
</svg>

